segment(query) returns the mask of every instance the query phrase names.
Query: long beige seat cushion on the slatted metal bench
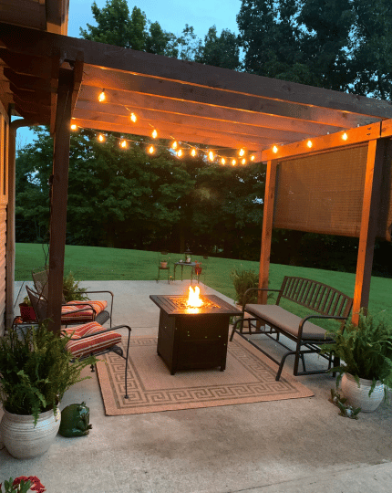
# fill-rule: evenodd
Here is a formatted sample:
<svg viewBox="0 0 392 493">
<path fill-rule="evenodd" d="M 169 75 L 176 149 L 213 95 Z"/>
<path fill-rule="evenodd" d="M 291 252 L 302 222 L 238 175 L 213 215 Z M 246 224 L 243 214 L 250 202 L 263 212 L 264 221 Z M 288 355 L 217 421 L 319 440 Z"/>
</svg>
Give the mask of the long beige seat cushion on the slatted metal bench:
<svg viewBox="0 0 392 493">
<path fill-rule="evenodd" d="M 293 313 L 290 313 L 290 311 L 287 311 L 278 305 L 249 304 L 245 306 L 245 311 L 256 318 L 264 320 L 267 325 L 270 322 L 273 325 L 277 325 L 285 332 L 294 335 L 294 337 L 298 337 L 299 324 L 302 320 L 301 317 L 297 317 Z M 325 341 L 325 334 L 326 330 L 318 327 L 318 325 L 315 325 L 310 321 L 304 323 L 302 339 Z"/>
</svg>

